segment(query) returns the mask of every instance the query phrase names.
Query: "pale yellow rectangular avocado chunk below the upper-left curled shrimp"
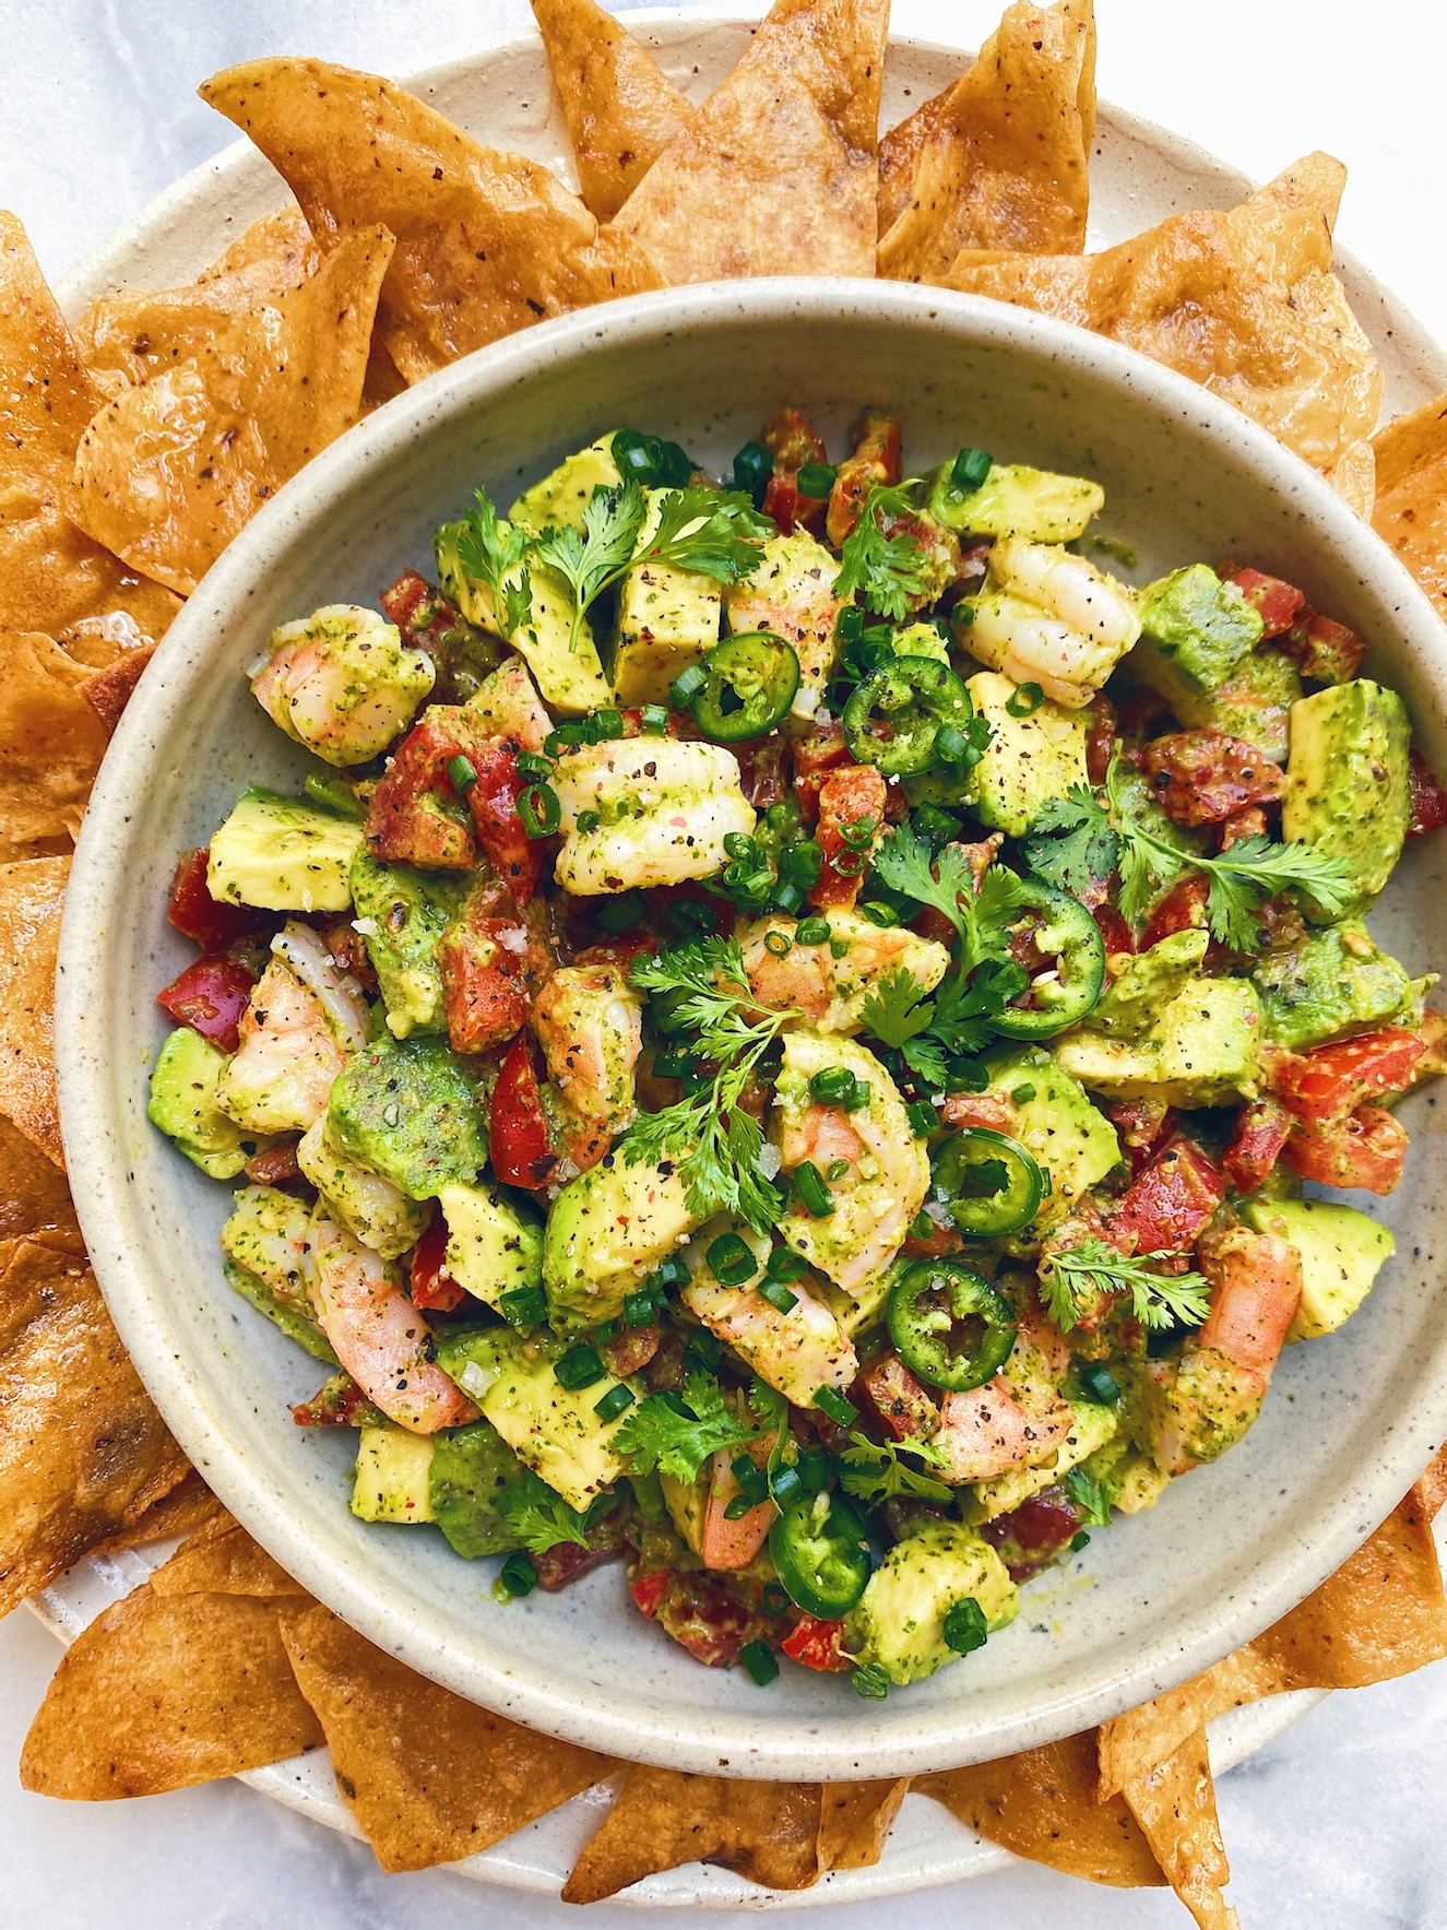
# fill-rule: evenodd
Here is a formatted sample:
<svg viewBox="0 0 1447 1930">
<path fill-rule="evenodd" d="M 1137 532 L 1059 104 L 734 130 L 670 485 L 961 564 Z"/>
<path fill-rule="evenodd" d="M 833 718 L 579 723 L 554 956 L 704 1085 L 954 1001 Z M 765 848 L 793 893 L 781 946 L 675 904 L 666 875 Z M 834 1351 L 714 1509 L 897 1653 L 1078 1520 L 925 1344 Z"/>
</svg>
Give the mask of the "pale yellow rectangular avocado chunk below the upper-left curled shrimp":
<svg viewBox="0 0 1447 1930">
<path fill-rule="evenodd" d="M 212 834 L 206 890 L 220 903 L 262 911 L 345 911 L 361 847 L 355 818 L 274 791 L 243 791 Z"/>
</svg>

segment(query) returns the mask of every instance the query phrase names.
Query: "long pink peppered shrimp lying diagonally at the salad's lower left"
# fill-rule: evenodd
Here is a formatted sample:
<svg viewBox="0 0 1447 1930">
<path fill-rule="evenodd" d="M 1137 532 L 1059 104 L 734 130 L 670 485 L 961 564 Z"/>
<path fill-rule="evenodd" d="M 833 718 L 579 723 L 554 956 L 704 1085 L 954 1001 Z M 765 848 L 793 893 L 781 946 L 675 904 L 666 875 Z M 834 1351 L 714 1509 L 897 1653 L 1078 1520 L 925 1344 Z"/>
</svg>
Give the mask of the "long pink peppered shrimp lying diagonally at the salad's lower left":
<svg viewBox="0 0 1447 1930">
<path fill-rule="evenodd" d="M 307 1247 L 316 1320 L 367 1399 L 411 1434 L 477 1420 L 477 1407 L 436 1365 L 432 1332 L 396 1264 L 322 1212 L 313 1214 Z"/>
</svg>

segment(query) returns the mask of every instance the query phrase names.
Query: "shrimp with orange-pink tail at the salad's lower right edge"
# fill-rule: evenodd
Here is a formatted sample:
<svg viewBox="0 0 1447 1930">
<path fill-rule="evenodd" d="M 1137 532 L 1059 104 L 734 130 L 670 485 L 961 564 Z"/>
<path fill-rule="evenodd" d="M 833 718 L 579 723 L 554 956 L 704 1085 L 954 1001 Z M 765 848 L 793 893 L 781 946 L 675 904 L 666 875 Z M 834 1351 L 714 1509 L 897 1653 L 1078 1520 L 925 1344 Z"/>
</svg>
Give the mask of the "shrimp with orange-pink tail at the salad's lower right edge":
<svg viewBox="0 0 1447 1930">
<path fill-rule="evenodd" d="M 1212 1310 L 1171 1374 L 1150 1376 L 1150 1457 L 1163 1475 L 1215 1461 L 1256 1420 L 1302 1289 L 1300 1254 L 1277 1233 L 1231 1227 L 1204 1239 Z"/>
</svg>

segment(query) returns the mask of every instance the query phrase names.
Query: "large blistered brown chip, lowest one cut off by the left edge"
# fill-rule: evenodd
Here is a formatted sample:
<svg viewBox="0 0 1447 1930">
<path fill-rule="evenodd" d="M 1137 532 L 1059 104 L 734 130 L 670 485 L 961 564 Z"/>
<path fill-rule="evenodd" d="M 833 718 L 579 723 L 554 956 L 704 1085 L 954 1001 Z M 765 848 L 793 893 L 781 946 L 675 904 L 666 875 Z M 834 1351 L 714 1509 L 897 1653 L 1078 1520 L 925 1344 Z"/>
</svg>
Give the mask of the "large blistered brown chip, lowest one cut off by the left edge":
<svg viewBox="0 0 1447 1930">
<path fill-rule="evenodd" d="M 0 1245 L 0 1613 L 185 1475 L 75 1227 Z"/>
</svg>

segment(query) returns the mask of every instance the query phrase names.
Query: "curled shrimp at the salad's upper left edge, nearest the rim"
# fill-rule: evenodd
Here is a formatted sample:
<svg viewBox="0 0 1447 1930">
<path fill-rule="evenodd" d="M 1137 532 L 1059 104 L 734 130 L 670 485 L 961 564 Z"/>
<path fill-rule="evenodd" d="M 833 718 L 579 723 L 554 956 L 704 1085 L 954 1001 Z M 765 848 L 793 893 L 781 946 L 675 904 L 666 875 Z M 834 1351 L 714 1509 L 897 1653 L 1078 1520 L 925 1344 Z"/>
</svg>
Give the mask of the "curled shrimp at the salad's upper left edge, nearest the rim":
<svg viewBox="0 0 1447 1930">
<path fill-rule="evenodd" d="M 365 764 L 399 737 L 436 681 L 426 650 L 357 604 L 282 623 L 251 679 L 266 716 L 328 764 Z"/>
</svg>

